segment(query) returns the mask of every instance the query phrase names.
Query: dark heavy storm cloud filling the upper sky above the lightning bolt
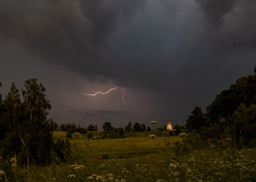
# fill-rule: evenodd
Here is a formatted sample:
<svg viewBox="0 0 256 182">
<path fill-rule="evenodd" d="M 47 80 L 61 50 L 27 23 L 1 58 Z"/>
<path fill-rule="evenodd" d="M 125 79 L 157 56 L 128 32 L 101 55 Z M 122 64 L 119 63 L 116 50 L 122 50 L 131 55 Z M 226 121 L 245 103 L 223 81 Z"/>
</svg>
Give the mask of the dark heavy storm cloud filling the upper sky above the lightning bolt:
<svg viewBox="0 0 256 182">
<path fill-rule="evenodd" d="M 255 62 L 255 7 L 254 0 L 2 0 L 0 36 L 90 80 L 162 91 L 172 108 L 188 111 L 248 73 L 240 67 Z"/>
</svg>

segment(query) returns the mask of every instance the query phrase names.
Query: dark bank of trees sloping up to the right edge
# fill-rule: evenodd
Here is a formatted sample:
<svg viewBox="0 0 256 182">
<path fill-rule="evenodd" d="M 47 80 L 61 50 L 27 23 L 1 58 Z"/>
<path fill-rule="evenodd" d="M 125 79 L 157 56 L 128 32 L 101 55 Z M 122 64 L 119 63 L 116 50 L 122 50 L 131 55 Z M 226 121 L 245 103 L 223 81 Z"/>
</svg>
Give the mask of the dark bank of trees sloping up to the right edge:
<svg viewBox="0 0 256 182">
<path fill-rule="evenodd" d="M 202 113 L 196 106 L 189 115 L 185 127 L 197 131 L 202 139 L 223 139 L 234 131 L 235 140 L 241 146 L 249 146 L 256 139 L 256 67 L 254 75 L 241 77 Z M 228 128 L 228 126 L 231 126 Z M 234 126 L 234 128 L 233 128 Z"/>
</svg>

